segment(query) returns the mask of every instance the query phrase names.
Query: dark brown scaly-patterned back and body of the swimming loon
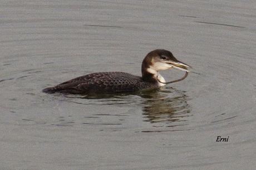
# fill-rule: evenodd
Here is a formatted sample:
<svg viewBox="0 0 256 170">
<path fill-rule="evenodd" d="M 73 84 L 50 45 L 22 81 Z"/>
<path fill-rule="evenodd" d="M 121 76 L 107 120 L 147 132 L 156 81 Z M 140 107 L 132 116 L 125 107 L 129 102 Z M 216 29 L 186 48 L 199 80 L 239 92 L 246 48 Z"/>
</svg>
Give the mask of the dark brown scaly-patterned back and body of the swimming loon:
<svg viewBox="0 0 256 170">
<path fill-rule="evenodd" d="M 46 93 L 120 93 L 157 87 L 155 83 L 142 81 L 139 76 L 124 72 L 99 72 L 71 79 L 55 87 L 43 89 Z"/>
</svg>

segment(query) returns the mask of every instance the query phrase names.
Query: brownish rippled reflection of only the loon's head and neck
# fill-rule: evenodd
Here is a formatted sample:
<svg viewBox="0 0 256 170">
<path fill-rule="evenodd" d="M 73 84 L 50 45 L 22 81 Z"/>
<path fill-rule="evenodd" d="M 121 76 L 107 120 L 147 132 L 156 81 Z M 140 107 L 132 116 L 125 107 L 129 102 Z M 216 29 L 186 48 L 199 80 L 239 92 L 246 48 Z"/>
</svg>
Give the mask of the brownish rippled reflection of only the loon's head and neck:
<svg viewBox="0 0 256 170">
<path fill-rule="evenodd" d="M 142 114 L 147 118 L 145 121 L 169 124 L 172 122 L 185 122 L 186 119 L 184 117 L 190 116 L 190 108 L 187 103 L 189 97 L 184 92 L 179 92 L 173 88 L 165 88 L 142 92 L 140 96 L 143 98 Z"/>
</svg>

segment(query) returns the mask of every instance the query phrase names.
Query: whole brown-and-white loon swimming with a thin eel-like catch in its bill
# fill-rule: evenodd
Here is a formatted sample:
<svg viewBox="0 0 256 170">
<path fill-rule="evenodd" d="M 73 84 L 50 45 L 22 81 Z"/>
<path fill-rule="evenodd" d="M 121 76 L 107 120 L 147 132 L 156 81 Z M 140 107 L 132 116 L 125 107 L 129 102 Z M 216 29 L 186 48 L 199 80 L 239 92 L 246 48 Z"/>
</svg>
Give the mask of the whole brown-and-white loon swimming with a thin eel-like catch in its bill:
<svg viewBox="0 0 256 170">
<path fill-rule="evenodd" d="M 71 79 L 55 87 L 43 89 L 45 93 L 122 93 L 164 86 L 166 81 L 159 71 L 176 68 L 188 75 L 188 64 L 178 61 L 170 51 L 156 49 L 142 61 L 142 77 L 124 72 L 99 72 Z M 184 78 L 183 78 L 184 79 Z M 173 81 L 175 82 L 175 81 Z"/>
</svg>

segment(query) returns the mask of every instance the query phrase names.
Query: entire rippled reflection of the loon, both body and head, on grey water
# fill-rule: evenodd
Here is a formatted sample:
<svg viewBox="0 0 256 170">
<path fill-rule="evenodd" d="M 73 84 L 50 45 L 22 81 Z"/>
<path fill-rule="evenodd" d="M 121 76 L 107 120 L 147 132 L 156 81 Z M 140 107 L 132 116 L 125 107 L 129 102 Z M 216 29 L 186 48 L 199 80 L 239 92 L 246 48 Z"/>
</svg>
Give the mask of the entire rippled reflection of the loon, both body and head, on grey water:
<svg viewBox="0 0 256 170">
<path fill-rule="evenodd" d="M 137 97 L 139 98 L 137 98 Z M 97 94 L 86 96 L 66 96 L 68 98 L 90 99 L 88 103 L 78 104 L 136 104 L 142 107 L 144 121 L 154 123 L 155 127 L 175 127 L 185 125 L 186 117 L 190 115 L 190 107 L 187 101 L 189 97 L 185 92 L 178 91 L 171 87 L 140 91 L 126 94 Z"/>
</svg>

